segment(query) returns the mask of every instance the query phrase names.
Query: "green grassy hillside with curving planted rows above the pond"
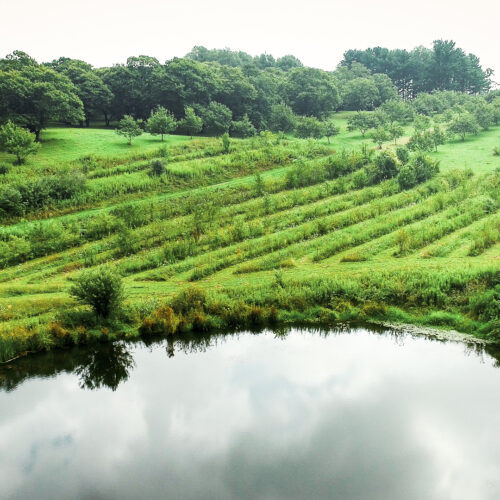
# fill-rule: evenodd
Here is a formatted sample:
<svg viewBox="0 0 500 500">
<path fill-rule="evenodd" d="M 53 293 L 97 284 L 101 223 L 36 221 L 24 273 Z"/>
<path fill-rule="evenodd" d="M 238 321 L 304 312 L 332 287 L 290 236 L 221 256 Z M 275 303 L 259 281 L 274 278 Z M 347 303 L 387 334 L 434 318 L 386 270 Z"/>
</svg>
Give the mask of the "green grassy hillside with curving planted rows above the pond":
<svg viewBox="0 0 500 500">
<path fill-rule="evenodd" d="M 174 330 L 365 319 L 498 339 L 500 127 L 442 146 L 431 154 L 442 173 L 402 191 L 396 179 L 362 181 L 371 153 L 342 151 L 368 140 L 338 122 L 331 144 L 257 137 L 223 154 L 218 139 L 171 136 L 167 157 L 147 134 L 129 147 L 109 130 L 44 132 L 39 155 L 0 185 L 78 169 L 85 189 L 4 219 L 0 361 L 168 332 L 162 306 L 182 290 L 191 292 L 184 309 L 174 301 Z M 166 162 L 160 177 L 154 158 Z M 110 263 L 126 307 L 101 324 L 68 288 Z"/>
</svg>

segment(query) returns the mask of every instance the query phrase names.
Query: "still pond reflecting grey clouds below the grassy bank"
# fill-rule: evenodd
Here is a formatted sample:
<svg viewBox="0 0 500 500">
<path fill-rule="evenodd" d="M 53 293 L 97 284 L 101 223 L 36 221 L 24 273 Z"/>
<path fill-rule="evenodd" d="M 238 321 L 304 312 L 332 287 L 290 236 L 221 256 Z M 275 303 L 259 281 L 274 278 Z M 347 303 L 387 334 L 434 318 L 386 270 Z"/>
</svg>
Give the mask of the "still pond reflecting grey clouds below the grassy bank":
<svg viewBox="0 0 500 500">
<path fill-rule="evenodd" d="M 365 329 L 23 359 L 0 369 L 0 497 L 498 499 L 498 361 Z"/>
</svg>

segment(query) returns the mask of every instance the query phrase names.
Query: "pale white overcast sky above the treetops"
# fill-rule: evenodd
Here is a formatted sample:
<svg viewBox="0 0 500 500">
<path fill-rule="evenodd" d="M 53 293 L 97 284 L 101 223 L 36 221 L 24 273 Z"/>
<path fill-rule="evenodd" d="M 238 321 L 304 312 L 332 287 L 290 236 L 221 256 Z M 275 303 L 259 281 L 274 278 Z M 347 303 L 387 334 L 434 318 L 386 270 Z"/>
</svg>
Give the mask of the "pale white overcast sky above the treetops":
<svg viewBox="0 0 500 500">
<path fill-rule="evenodd" d="M 477 0 L 0 0 L 0 56 L 60 56 L 94 66 L 146 54 L 161 62 L 194 45 L 252 55 L 294 54 L 334 69 L 350 48 L 430 47 L 455 40 L 500 81 L 500 1 Z"/>
</svg>

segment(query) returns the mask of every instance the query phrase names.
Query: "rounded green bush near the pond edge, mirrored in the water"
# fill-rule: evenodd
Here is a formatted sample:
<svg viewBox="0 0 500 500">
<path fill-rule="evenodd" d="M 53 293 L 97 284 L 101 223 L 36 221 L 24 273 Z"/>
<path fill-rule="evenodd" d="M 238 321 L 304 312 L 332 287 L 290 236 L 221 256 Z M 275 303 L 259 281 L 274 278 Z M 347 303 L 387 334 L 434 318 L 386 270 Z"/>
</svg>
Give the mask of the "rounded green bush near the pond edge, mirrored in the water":
<svg viewBox="0 0 500 500">
<path fill-rule="evenodd" d="M 70 295 L 91 306 L 96 316 L 109 318 L 124 297 L 121 276 L 110 267 L 84 271 L 76 278 Z"/>
</svg>

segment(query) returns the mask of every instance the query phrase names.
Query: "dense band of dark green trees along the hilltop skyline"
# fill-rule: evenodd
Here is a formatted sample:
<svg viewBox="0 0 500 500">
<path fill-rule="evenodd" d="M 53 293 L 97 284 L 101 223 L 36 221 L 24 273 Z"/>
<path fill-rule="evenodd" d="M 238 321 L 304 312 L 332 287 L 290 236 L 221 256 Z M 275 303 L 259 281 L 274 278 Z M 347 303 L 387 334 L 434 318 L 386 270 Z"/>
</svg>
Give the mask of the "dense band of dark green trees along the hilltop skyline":
<svg viewBox="0 0 500 500">
<path fill-rule="evenodd" d="M 448 58 L 441 56 L 446 50 Z M 325 118 L 342 109 L 373 110 L 398 92 L 404 99 L 435 89 L 482 93 L 491 84 L 491 71 L 483 71 L 479 59 L 454 42 L 437 41 L 432 50 L 408 53 L 411 71 L 405 66 L 401 74 L 394 61 L 404 59 L 397 54 L 405 51 L 384 51 L 348 51 L 335 71 L 304 67 L 291 55 L 252 57 L 204 47 L 165 64 L 138 56 L 108 68 L 65 57 L 39 64 L 15 51 L 0 59 L 0 123 L 12 120 L 39 138 L 49 122 L 109 125 L 125 115 L 146 120 L 161 106 L 177 120 L 189 108 L 204 122 L 216 120 L 216 112 L 225 122 L 227 117 L 236 122 L 236 129 L 250 122 L 257 131 L 284 131 L 289 112 Z M 421 75 L 427 75 L 425 84 L 419 83 Z M 201 133 L 209 135 L 209 128 L 204 125 Z"/>
</svg>

